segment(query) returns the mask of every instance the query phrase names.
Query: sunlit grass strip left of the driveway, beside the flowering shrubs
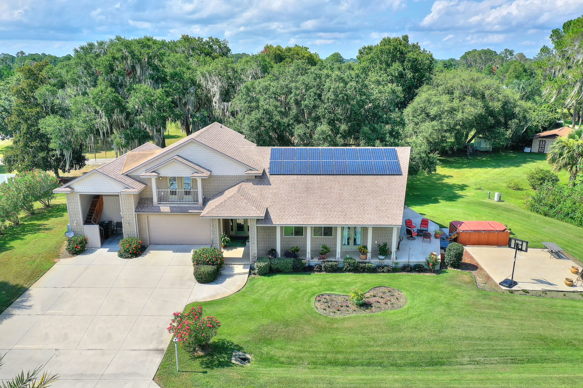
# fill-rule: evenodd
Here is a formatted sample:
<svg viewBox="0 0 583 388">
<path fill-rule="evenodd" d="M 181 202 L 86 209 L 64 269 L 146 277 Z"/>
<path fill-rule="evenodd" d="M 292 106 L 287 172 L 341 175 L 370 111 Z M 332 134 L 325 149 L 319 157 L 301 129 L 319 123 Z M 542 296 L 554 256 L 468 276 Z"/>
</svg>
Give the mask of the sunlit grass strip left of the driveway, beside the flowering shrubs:
<svg viewBox="0 0 583 388">
<path fill-rule="evenodd" d="M 48 209 L 23 216 L 0 237 L 0 312 L 4 311 L 59 258 L 68 221 L 65 195 Z"/>
</svg>

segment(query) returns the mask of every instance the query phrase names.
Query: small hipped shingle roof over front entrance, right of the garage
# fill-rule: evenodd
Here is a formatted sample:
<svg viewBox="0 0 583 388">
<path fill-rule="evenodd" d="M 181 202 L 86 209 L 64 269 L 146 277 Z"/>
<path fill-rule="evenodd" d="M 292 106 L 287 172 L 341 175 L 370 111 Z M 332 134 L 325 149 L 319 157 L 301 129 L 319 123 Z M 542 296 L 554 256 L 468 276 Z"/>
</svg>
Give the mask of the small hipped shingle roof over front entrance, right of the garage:
<svg viewBox="0 0 583 388">
<path fill-rule="evenodd" d="M 201 217 L 263 218 L 267 207 L 253 195 L 248 185 L 236 185 L 209 201 Z"/>
</svg>

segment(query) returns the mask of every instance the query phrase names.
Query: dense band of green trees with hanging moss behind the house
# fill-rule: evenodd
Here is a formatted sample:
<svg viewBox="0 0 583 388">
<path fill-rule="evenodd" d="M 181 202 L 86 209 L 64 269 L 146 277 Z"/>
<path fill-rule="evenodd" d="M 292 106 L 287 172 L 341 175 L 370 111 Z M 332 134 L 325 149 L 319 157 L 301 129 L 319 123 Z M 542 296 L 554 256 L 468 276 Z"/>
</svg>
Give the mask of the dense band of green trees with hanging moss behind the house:
<svg viewBox="0 0 583 388">
<path fill-rule="evenodd" d="M 300 45 L 233 54 L 226 40 L 187 35 L 118 36 L 38 61 L 2 54 L 0 135 L 14 144 L 3 159 L 58 175 L 84 165 L 83 147 L 164 147 L 168 122 L 189 135 L 219 121 L 260 146 L 411 146 L 410 173 L 431 173 L 437 153 L 476 137 L 526 143 L 561 107 L 581 111 L 580 19 L 532 59 L 484 49 L 440 61 L 406 35 L 361 47 L 356 61 Z"/>
</svg>

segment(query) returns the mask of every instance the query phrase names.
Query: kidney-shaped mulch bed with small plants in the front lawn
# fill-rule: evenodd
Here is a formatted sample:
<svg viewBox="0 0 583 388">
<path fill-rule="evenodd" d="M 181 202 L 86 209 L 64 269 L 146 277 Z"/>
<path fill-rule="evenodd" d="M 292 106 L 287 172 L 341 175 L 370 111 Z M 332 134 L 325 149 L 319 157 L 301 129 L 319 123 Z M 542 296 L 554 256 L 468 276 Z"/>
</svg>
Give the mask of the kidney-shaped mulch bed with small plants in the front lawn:
<svg viewBox="0 0 583 388">
<path fill-rule="evenodd" d="M 381 286 L 366 292 L 364 301 L 363 305 L 356 306 L 348 295 L 320 294 L 316 297 L 314 305 L 321 314 L 346 316 L 400 309 L 407 303 L 407 298 L 396 288 Z"/>
</svg>

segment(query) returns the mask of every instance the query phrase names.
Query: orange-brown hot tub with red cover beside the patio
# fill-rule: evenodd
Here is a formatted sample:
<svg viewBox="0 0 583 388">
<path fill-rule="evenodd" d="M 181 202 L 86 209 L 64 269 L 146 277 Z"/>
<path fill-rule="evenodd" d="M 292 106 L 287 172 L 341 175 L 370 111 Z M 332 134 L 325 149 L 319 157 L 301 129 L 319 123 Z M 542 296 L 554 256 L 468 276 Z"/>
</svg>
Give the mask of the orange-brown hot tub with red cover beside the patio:
<svg viewBox="0 0 583 388">
<path fill-rule="evenodd" d="M 510 231 L 496 221 L 451 221 L 449 231 L 458 231 L 455 242 L 462 245 L 508 245 Z"/>
</svg>

